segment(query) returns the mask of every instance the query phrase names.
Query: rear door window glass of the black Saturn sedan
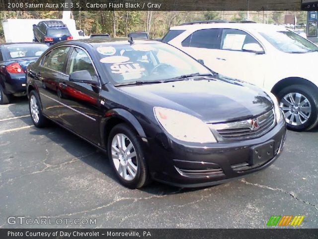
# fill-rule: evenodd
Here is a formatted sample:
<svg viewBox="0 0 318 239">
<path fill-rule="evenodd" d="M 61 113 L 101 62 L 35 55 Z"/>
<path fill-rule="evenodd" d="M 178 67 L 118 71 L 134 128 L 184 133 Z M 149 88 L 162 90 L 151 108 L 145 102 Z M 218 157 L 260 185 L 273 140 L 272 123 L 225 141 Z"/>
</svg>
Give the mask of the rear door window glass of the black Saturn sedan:
<svg viewBox="0 0 318 239">
<path fill-rule="evenodd" d="M 63 72 L 64 62 L 68 55 L 70 47 L 58 47 L 47 54 L 43 60 L 43 66 L 52 70 Z M 63 72 L 64 73 L 64 72 Z"/>
</svg>

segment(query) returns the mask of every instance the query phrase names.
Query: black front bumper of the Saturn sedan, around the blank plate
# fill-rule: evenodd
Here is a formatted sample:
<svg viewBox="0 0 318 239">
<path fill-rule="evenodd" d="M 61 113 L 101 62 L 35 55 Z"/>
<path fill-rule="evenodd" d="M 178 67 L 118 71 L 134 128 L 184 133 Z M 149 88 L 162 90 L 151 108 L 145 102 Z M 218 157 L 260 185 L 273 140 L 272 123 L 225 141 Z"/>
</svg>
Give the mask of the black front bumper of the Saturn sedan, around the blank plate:
<svg viewBox="0 0 318 239">
<path fill-rule="evenodd" d="M 148 140 L 148 165 L 154 180 L 178 187 L 204 187 L 257 172 L 281 154 L 286 138 L 284 118 L 259 138 L 238 142 L 192 144 L 159 136 Z M 250 164 L 251 148 L 274 141 L 272 158 Z"/>
</svg>

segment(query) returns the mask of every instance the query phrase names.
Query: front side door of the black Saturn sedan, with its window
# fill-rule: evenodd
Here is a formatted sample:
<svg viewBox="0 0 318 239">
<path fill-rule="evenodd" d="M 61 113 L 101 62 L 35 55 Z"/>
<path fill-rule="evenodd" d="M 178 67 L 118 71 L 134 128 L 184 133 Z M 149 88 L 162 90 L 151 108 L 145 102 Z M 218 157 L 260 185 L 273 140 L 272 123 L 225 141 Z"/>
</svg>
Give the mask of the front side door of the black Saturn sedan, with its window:
<svg viewBox="0 0 318 239">
<path fill-rule="evenodd" d="M 74 47 L 69 57 L 67 74 L 87 70 L 99 82 L 98 74 L 88 53 Z M 93 143 L 100 142 L 101 120 L 99 92 L 100 84 L 71 82 L 64 78 L 59 83 L 63 124 Z"/>
</svg>

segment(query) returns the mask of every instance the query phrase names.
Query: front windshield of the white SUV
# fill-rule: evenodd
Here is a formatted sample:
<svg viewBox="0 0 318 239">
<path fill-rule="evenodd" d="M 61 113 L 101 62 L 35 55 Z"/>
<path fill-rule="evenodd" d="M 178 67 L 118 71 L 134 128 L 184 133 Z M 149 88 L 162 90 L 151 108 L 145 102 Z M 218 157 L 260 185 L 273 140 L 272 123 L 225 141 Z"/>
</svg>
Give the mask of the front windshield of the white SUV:
<svg viewBox="0 0 318 239">
<path fill-rule="evenodd" d="M 259 32 L 278 50 L 287 53 L 306 53 L 317 51 L 318 46 L 289 30 Z"/>
</svg>

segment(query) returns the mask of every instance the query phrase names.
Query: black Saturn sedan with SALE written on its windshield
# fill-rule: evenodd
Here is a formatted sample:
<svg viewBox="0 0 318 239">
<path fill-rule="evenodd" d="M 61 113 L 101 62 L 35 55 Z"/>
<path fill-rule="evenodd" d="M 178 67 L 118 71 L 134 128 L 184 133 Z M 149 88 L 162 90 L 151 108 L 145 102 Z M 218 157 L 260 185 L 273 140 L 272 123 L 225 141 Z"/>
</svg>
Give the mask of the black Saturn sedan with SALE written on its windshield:
<svg viewBox="0 0 318 239">
<path fill-rule="evenodd" d="M 276 98 L 151 40 L 86 39 L 50 47 L 27 70 L 30 114 L 107 152 L 121 183 L 219 184 L 282 152 Z"/>
</svg>

